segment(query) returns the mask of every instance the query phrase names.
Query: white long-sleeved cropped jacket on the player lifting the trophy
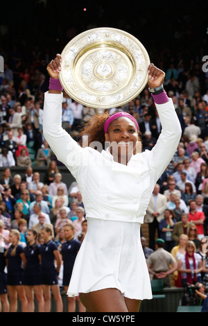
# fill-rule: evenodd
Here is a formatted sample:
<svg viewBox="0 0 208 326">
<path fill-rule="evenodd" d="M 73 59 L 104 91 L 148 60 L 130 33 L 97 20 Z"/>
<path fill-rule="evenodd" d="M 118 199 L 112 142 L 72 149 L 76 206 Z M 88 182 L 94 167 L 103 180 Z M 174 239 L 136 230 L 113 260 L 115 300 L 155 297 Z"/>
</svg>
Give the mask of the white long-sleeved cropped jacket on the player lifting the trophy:
<svg viewBox="0 0 208 326">
<path fill-rule="evenodd" d="M 62 129 L 62 94 L 45 93 L 43 132 L 52 151 L 78 183 L 86 217 L 143 223 L 155 183 L 173 158 L 181 137 L 171 99 L 157 105 L 162 133 L 151 151 L 132 155 L 128 165 L 110 151 L 80 147 Z"/>
</svg>

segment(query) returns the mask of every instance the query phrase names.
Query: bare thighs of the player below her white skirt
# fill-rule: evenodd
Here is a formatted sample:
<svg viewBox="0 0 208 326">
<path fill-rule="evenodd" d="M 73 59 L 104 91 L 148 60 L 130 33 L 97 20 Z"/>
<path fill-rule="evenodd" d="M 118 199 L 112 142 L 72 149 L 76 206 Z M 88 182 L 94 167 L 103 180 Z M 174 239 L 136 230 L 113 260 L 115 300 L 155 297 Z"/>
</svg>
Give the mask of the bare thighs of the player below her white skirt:
<svg viewBox="0 0 208 326">
<path fill-rule="evenodd" d="M 114 288 L 80 293 L 80 300 L 88 312 L 138 312 L 141 304 L 141 300 L 125 298 Z"/>
</svg>

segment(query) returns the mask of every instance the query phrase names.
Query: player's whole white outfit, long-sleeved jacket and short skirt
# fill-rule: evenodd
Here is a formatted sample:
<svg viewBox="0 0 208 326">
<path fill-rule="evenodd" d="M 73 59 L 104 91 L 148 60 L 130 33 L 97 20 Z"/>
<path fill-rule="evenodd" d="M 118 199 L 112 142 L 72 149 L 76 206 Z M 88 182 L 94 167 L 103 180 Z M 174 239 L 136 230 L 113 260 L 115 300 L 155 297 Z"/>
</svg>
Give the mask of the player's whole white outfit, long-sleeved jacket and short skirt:
<svg viewBox="0 0 208 326">
<path fill-rule="evenodd" d="M 132 155 L 123 165 L 114 162 L 108 150 L 81 148 L 62 129 L 62 94 L 45 93 L 44 137 L 76 178 L 87 217 L 87 234 L 73 266 L 69 296 L 116 288 L 126 298 L 152 298 L 140 227 L 155 183 L 181 137 L 171 99 L 156 106 L 162 123 L 157 144 L 152 151 Z"/>
</svg>

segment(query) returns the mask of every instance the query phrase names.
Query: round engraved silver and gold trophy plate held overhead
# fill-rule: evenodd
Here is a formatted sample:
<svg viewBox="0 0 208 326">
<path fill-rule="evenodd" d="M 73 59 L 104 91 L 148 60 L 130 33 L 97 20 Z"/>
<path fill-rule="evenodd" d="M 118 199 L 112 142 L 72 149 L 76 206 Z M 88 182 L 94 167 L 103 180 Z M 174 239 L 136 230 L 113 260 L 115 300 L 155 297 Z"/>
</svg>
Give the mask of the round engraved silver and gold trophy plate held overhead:
<svg viewBox="0 0 208 326">
<path fill-rule="evenodd" d="M 59 74 L 64 90 L 91 108 L 116 108 L 146 86 L 150 59 L 134 36 L 116 28 L 80 33 L 64 47 Z"/>
</svg>

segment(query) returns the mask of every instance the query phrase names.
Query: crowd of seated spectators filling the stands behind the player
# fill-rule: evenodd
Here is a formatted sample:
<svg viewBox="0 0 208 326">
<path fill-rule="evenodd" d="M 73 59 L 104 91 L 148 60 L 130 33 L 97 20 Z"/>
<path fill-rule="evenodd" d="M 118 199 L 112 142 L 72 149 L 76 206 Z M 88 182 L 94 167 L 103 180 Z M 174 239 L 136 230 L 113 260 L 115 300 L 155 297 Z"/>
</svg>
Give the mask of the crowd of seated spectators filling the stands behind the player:
<svg viewBox="0 0 208 326">
<path fill-rule="evenodd" d="M 46 30 L 48 21 L 44 19 L 44 13 L 45 9 L 41 6 L 37 10 L 40 17 L 38 22 L 42 31 L 49 33 Z M 99 9 L 98 17 L 101 22 L 105 22 L 104 8 Z M 83 30 L 97 26 L 96 22 L 84 26 L 84 19 L 82 23 Z M 140 27 L 144 27 L 144 37 L 147 23 L 141 17 L 139 23 L 137 22 Z M 153 40 L 148 44 L 144 42 L 151 60 L 166 73 L 164 88 L 175 106 L 182 127 L 182 138 L 173 160 L 157 180 L 153 202 L 149 204 L 144 220 L 148 223 L 149 236 L 148 239 L 141 238 L 141 242 L 150 277 L 166 280 L 167 275 L 172 274 L 175 286 L 182 286 L 188 281 L 200 282 L 205 286 L 204 290 L 208 291 L 208 258 L 203 247 L 205 237 L 208 236 L 207 53 L 205 38 L 195 37 L 196 42 L 192 42 L 196 28 L 191 24 L 189 15 L 184 19 L 184 30 L 182 22 L 177 23 L 174 35 L 166 40 L 161 51 L 156 42 L 157 37 L 155 43 Z M 130 28 L 128 22 L 124 21 L 122 24 L 121 19 L 119 27 L 137 36 L 137 24 L 132 22 Z M 35 21 L 33 35 L 37 42 L 34 46 L 31 45 L 33 42 L 28 42 L 28 37 L 32 35 L 28 36 L 25 29 L 19 33 L 21 40 L 17 37 L 16 42 L 8 42 L 8 33 L 14 32 L 14 26 L 9 28 L 3 21 L 0 26 L 3 40 L 0 44 L 0 55 L 4 60 L 4 69 L 0 72 L 1 240 L 3 239 L 7 249 L 10 244 L 9 232 L 15 229 L 19 231 L 21 246 L 25 247 L 27 231 L 35 228 L 40 233 L 42 226 L 47 225 L 51 228 L 53 240 L 60 246 L 64 243 L 64 224 L 71 221 L 76 229 L 75 237 L 81 243 L 87 230 L 82 195 L 76 182 L 69 189 L 62 182 L 62 175 L 58 170 L 61 163 L 43 137 L 42 123 L 44 92 L 49 87 L 46 65 L 82 30 L 74 24 L 64 29 L 65 35 L 62 37 L 62 28 L 58 25 L 54 29 L 50 25 L 51 33 L 46 46 L 35 29 Z M 20 26 L 18 28 L 21 29 Z M 24 53 L 26 44 L 28 49 Z M 116 110 L 129 112 L 137 119 L 142 150 L 151 150 L 159 137 L 161 125 L 148 87 L 123 107 L 108 111 L 112 114 Z M 62 127 L 74 139 L 78 140 L 80 126 L 100 112 L 103 110 L 87 108 L 63 92 Z M 24 167 L 24 178 L 18 174 L 12 177 L 12 166 Z M 45 166 L 44 180 L 40 180 L 38 172 L 33 173 L 33 166 Z M 160 204 L 156 209 L 157 200 Z M 42 243 L 41 237 L 38 241 Z M 170 263 L 173 267 L 164 269 L 164 266 L 159 266 L 158 255 L 164 257 L 165 266 Z M 190 274 L 188 269 L 195 271 L 191 278 L 187 278 Z M 61 279 L 60 273 L 60 286 Z M 170 286 L 169 282 L 167 284 Z"/>
</svg>

